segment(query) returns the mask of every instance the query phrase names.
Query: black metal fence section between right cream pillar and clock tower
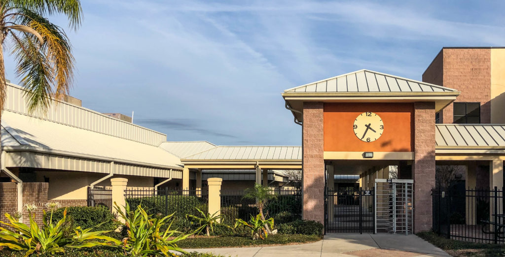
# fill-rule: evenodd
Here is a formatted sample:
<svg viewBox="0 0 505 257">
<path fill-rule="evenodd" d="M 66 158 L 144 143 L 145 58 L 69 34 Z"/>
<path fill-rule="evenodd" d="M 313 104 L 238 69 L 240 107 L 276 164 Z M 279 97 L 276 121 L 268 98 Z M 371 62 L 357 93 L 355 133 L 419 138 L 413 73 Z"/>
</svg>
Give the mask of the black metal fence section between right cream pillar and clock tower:
<svg viewBox="0 0 505 257">
<path fill-rule="evenodd" d="M 301 219 L 301 190 L 276 189 L 271 191 L 275 198 L 269 200 L 263 210 L 267 218 L 273 217 L 277 223 Z M 244 198 L 244 190 L 221 190 L 221 214 L 224 221 L 233 224 L 235 219 L 249 220 L 259 212 L 255 199 Z"/>
</svg>

